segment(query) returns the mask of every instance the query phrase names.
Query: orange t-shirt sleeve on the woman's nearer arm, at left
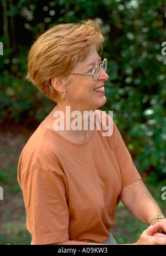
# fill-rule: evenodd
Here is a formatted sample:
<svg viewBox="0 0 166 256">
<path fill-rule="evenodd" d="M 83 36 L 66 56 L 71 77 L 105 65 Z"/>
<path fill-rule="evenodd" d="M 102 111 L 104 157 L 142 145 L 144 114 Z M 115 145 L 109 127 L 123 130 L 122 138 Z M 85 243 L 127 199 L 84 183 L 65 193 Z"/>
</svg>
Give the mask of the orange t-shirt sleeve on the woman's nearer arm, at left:
<svg viewBox="0 0 166 256">
<path fill-rule="evenodd" d="M 34 245 L 69 239 L 69 211 L 65 175 L 62 171 L 32 168 L 22 174 L 27 229 Z"/>
</svg>

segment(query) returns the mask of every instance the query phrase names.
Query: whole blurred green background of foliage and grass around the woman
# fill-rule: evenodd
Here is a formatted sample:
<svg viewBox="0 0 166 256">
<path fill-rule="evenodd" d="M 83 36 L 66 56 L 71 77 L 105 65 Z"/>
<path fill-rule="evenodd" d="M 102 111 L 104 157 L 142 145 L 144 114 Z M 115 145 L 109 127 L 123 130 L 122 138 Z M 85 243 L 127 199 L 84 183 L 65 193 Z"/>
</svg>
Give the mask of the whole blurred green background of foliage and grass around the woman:
<svg viewBox="0 0 166 256">
<path fill-rule="evenodd" d="M 22 192 L 20 152 L 54 102 L 25 81 L 32 42 L 59 23 L 95 19 L 108 58 L 106 105 L 148 189 L 165 211 L 166 3 L 162 0 L 0 1 L 0 244 L 30 244 Z M 166 43 L 165 43 L 166 44 Z M 118 243 L 134 243 L 147 226 L 118 205 Z"/>
</svg>

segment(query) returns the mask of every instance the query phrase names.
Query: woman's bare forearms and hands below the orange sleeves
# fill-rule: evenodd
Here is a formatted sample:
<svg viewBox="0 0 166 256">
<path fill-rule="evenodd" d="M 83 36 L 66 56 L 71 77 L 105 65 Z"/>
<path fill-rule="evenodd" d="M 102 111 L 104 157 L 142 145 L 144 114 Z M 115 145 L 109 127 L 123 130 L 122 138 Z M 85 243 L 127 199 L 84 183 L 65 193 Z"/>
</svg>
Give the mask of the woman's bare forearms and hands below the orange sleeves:
<svg viewBox="0 0 166 256">
<path fill-rule="evenodd" d="M 121 194 L 122 203 L 136 216 L 137 219 L 149 224 L 149 222 L 157 215 L 163 215 L 157 202 L 147 190 L 142 180 L 137 180 L 131 185 L 125 186 Z M 166 235 L 159 234 L 161 229 L 164 230 L 166 219 L 154 220 L 154 225 L 148 227 L 141 235 L 137 243 L 133 245 L 166 245 Z M 54 245 L 103 245 L 97 243 L 87 243 L 66 240 Z"/>
</svg>

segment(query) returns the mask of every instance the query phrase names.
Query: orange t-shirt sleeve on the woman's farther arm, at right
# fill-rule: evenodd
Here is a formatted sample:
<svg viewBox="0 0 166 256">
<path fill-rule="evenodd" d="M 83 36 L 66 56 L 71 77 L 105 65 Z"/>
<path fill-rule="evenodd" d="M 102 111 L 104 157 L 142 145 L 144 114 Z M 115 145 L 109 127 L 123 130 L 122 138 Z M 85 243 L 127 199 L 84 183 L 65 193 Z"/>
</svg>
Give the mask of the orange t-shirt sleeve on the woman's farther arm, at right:
<svg viewBox="0 0 166 256">
<path fill-rule="evenodd" d="M 117 126 L 113 122 L 113 148 L 121 171 L 122 185 L 127 186 L 141 179 Z"/>
</svg>

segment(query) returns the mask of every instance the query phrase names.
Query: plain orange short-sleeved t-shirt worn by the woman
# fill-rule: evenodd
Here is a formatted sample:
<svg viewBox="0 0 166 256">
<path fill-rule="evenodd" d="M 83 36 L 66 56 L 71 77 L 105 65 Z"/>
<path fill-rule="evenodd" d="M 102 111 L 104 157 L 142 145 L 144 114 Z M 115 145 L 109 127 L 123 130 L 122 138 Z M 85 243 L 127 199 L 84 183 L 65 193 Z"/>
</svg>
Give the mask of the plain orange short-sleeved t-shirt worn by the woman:
<svg viewBox="0 0 166 256">
<path fill-rule="evenodd" d="M 33 244 L 109 238 L 122 188 L 141 176 L 115 123 L 111 136 L 102 132 L 94 126 L 76 144 L 41 124 L 25 145 L 18 182 Z"/>
</svg>

